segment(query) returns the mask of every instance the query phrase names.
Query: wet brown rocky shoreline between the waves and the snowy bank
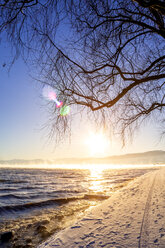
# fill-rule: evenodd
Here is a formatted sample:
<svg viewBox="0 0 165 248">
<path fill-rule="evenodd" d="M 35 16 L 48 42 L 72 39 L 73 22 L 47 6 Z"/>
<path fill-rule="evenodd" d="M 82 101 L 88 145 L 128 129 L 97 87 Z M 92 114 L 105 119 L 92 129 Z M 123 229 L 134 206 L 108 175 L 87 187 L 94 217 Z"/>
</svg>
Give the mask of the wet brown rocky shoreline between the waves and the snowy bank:
<svg viewBox="0 0 165 248">
<path fill-rule="evenodd" d="M 125 187 L 134 178 L 129 178 L 122 183 L 117 183 L 110 196 L 120 188 Z M 108 198 L 109 198 L 108 197 Z M 0 223 L 0 233 L 12 232 L 12 239 L 9 242 L 1 243 L 3 248 L 34 248 L 42 242 L 46 241 L 52 235 L 57 235 L 61 230 L 71 227 L 75 222 L 81 220 L 93 207 L 96 207 L 105 199 L 86 200 L 80 199 L 70 202 L 63 206 L 59 206 L 53 212 L 44 212 L 26 218 L 17 218 L 15 220 L 6 220 L 6 223 Z"/>
</svg>

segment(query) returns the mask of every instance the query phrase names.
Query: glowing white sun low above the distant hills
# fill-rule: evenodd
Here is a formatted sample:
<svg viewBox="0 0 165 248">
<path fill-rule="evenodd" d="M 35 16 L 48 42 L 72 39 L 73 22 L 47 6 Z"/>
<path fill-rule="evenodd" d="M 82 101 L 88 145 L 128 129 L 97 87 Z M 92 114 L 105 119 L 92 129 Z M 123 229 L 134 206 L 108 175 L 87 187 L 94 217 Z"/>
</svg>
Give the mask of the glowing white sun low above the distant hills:
<svg viewBox="0 0 165 248">
<path fill-rule="evenodd" d="M 86 138 L 86 145 L 91 156 L 105 156 L 108 148 L 108 139 L 103 132 L 91 132 Z"/>
</svg>

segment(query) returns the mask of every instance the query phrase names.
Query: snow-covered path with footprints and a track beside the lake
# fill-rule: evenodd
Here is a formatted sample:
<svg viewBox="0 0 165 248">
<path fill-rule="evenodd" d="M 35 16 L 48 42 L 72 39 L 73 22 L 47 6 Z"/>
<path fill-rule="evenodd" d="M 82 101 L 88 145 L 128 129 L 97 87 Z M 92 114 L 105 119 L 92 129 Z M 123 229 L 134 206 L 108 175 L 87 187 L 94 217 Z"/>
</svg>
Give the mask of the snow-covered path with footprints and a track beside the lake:
<svg viewBox="0 0 165 248">
<path fill-rule="evenodd" d="M 38 248 L 165 248 L 165 169 L 147 173 Z"/>
</svg>

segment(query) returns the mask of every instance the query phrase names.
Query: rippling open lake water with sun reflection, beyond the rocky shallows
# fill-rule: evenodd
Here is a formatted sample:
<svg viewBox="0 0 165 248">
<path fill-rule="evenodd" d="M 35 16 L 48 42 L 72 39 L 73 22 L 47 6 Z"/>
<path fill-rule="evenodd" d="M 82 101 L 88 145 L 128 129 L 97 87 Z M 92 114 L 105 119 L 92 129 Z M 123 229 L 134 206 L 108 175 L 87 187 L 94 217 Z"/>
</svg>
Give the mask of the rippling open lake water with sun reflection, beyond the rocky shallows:
<svg viewBox="0 0 165 248">
<path fill-rule="evenodd" d="M 149 170 L 1 168 L 0 215 L 4 218 L 16 217 L 16 213 L 56 207 L 76 199 L 102 200 L 110 195 L 116 185 Z"/>
</svg>

